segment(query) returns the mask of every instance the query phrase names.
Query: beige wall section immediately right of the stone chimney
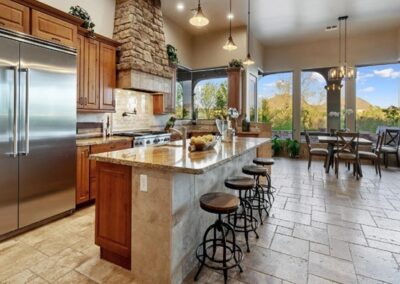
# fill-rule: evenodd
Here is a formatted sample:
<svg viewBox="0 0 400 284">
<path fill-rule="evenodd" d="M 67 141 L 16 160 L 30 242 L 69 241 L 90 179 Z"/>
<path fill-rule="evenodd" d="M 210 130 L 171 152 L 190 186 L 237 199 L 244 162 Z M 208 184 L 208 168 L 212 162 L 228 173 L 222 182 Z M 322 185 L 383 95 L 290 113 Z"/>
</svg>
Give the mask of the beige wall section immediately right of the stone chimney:
<svg viewBox="0 0 400 284">
<path fill-rule="evenodd" d="M 192 68 L 192 36 L 177 24 L 164 17 L 164 33 L 166 44 L 178 50 L 179 64 Z"/>
</svg>

